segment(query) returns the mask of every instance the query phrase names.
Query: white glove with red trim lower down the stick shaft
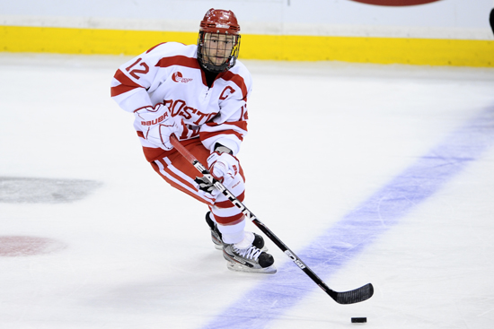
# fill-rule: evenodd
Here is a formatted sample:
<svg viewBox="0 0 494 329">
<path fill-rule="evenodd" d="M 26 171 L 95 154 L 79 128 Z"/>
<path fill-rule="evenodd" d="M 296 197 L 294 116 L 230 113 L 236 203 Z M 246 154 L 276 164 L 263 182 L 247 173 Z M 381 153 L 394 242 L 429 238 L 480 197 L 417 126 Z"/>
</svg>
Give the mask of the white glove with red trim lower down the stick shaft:
<svg viewBox="0 0 494 329">
<path fill-rule="evenodd" d="M 209 172 L 221 182 L 223 182 L 224 179 L 233 179 L 240 169 L 238 159 L 234 157 L 231 152 L 232 151 L 225 146 L 219 146 L 216 147 L 215 152 L 211 153 L 207 158 Z"/>
</svg>

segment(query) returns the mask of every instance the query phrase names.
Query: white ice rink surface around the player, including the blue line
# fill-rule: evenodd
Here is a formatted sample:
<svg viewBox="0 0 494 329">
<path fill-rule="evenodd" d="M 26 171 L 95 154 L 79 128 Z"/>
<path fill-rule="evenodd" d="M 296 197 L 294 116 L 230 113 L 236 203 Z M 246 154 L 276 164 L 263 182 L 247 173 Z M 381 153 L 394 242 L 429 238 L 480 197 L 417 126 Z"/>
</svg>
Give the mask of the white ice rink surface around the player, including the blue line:
<svg viewBox="0 0 494 329">
<path fill-rule="evenodd" d="M 333 290 L 374 284 L 341 306 L 269 241 L 277 274 L 226 269 L 110 100 L 128 57 L 0 59 L 0 328 L 492 326 L 494 70 L 245 61 L 246 203 Z"/>
</svg>

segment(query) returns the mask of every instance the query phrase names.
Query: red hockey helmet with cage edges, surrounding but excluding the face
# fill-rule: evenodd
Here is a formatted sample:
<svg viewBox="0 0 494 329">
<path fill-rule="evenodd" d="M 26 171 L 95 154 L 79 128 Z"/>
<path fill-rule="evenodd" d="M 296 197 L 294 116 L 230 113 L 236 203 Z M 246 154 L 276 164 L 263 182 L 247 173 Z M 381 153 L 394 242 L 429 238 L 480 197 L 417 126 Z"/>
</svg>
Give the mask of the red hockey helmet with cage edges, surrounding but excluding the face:
<svg viewBox="0 0 494 329">
<path fill-rule="evenodd" d="M 207 35 L 225 35 L 231 36 L 234 40 L 234 46 L 228 56 L 225 56 L 225 62 L 222 64 L 213 63 L 207 54 L 210 54 L 211 48 L 207 48 Z M 219 39 L 219 38 L 218 38 Z M 235 14 L 232 11 L 223 9 L 209 9 L 200 22 L 198 35 L 198 62 L 207 71 L 225 72 L 234 67 L 240 50 L 240 25 L 237 22 Z"/>
</svg>

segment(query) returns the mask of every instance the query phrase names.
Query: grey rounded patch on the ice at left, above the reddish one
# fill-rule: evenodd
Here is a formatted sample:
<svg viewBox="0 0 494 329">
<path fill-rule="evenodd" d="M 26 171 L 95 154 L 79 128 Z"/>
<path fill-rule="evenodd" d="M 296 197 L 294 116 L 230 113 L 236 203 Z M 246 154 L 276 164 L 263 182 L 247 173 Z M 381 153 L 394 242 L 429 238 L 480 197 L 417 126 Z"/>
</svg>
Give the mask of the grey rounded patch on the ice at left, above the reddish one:
<svg viewBox="0 0 494 329">
<path fill-rule="evenodd" d="M 84 179 L 0 177 L 0 203 L 70 203 L 101 185 Z"/>
</svg>

